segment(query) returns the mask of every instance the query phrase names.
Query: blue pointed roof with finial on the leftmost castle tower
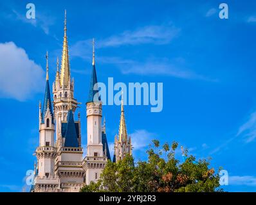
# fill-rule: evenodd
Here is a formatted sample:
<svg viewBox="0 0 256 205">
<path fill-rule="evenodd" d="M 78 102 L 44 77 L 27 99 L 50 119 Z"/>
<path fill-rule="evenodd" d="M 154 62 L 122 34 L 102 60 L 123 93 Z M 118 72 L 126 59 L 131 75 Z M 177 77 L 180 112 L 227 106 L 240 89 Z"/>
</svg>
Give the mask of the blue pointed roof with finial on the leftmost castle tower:
<svg viewBox="0 0 256 205">
<path fill-rule="evenodd" d="M 53 111 L 51 108 L 51 93 L 50 93 L 50 85 L 49 85 L 49 75 L 48 75 L 48 53 L 46 53 L 46 84 L 44 91 L 44 104 L 42 106 L 42 123 L 44 123 L 44 116 L 46 115 L 46 111 L 49 107 L 51 116 L 53 116 Z"/>
</svg>

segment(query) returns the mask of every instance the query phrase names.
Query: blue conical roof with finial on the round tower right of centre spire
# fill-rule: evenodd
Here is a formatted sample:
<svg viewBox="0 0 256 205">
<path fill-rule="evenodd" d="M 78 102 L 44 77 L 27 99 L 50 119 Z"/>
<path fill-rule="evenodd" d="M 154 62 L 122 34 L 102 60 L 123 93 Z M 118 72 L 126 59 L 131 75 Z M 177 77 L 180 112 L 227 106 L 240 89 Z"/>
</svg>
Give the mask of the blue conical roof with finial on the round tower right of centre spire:
<svg viewBox="0 0 256 205">
<path fill-rule="evenodd" d="M 96 75 L 96 68 L 95 68 L 95 49 L 94 49 L 94 45 L 95 45 L 95 41 L 93 39 L 93 67 L 91 70 L 91 82 L 89 85 L 89 96 L 87 99 L 87 102 L 95 102 L 94 97 L 96 97 L 96 101 L 100 100 L 100 97 L 98 95 L 98 87 L 96 87 L 95 90 L 93 90 L 94 86 L 96 83 L 98 83 L 97 81 L 97 75 Z"/>
</svg>

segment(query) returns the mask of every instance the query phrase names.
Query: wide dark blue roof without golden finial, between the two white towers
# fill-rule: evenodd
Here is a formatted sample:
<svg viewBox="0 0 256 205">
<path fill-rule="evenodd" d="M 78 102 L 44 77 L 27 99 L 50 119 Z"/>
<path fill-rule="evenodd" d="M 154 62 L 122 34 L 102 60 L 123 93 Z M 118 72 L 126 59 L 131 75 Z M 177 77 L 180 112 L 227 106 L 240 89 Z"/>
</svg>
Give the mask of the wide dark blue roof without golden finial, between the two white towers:
<svg viewBox="0 0 256 205">
<path fill-rule="evenodd" d="M 79 147 L 77 140 L 77 131 L 75 127 L 75 121 L 73 117 L 73 111 L 70 108 L 68 111 L 67 127 L 65 133 L 64 147 Z"/>
</svg>

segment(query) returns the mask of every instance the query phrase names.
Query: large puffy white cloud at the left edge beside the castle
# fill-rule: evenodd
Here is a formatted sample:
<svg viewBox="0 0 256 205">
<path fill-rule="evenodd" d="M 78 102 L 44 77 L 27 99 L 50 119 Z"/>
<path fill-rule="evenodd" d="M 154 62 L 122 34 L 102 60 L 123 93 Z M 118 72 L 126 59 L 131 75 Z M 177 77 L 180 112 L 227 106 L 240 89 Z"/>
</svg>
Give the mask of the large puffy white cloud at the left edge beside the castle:
<svg viewBox="0 0 256 205">
<path fill-rule="evenodd" d="M 0 44 L 0 76 L 0 97 L 24 101 L 44 87 L 44 71 L 14 42 Z"/>
</svg>

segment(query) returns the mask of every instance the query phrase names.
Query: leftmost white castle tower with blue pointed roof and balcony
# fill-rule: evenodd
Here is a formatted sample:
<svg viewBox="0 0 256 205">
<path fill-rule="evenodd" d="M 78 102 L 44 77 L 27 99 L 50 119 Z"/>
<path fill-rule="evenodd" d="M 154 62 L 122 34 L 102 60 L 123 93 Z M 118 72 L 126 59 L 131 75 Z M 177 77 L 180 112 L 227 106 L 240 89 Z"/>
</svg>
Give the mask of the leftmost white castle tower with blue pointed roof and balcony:
<svg viewBox="0 0 256 205">
<path fill-rule="evenodd" d="M 59 187 L 59 179 L 55 177 L 55 158 L 57 149 L 54 145 L 55 124 L 51 109 L 51 95 L 48 76 L 48 53 L 46 53 L 46 86 L 44 104 L 41 110 L 39 103 L 39 147 L 37 156 L 37 176 L 35 177 L 34 192 L 51 192 Z"/>
</svg>

